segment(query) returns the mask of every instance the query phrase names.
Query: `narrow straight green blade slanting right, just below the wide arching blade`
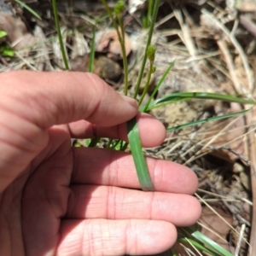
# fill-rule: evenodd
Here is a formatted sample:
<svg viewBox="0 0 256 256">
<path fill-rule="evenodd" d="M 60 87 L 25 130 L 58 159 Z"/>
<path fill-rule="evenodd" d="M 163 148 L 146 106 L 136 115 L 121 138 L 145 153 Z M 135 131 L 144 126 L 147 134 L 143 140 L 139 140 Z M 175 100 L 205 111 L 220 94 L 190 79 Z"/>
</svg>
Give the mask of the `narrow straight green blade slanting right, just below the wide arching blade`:
<svg viewBox="0 0 256 256">
<path fill-rule="evenodd" d="M 241 115 L 243 113 L 247 113 L 249 110 L 250 110 L 250 108 L 247 109 L 247 110 L 243 110 L 241 112 L 227 113 L 227 114 L 220 115 L 220 116 L 214 116 L 214 117 L 208 118 L 208 119 L 196 120 L 196 121 L 184 124 L 184 125 L 177 125 L 177 126 L 173 126 L 171 128 L 167 128 L 166 131 L 168 131 L 168 132 L 177 131 L 177 130 L 181 130 L 181 129 L 184 129 L 184 128 L 187 128 L 187 127 L 190 127 L 190 126 L 194 126 L 194 125 L 201 125 L 201 124 L 204 124 L 204 123 L 207 123 L 207 122 L 212 122 L 212 121 L 216 121 L 216 120 L 220 120 L 220 119 L 228 119 L 228 118 L 231 118 L 231 117 L 235 117 L 237 115 Z"/>
</svg>

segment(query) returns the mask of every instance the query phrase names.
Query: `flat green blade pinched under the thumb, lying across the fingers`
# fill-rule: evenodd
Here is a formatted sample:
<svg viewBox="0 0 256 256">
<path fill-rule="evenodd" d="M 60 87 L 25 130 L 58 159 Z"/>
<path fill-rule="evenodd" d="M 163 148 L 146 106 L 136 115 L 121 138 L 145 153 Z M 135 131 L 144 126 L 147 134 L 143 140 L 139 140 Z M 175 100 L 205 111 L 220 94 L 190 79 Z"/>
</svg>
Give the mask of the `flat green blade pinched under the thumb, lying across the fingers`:
<svg viewBox="0 0 256 256">
<path fill-rule="evenodd" d="M 131 154 L 137 170 L 137 177 L 141 187 L 145 191 L 154 191 L 154 186 L 148 172 L 146 160 L 143 155 L 142 143 L 139 137 L 136 118 L 127 123 L 128 139 L 131 147 Z"/>
</svg>

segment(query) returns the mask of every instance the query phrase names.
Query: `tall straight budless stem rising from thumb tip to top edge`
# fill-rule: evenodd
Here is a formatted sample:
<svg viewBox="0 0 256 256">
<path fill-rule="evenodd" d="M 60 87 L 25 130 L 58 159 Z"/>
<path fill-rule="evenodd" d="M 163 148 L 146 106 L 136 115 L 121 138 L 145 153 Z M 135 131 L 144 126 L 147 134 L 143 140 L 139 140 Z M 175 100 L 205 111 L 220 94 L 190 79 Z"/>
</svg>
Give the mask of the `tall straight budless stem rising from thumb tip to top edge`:
<svg viewBox="0 0 256 256">
<path fill-rule="evenodd" d="M 135 87 L 135 93 L 134 93 L 134 96 L 133 96 L 135 99 L 137 98 L 137 94 L 138 94 L 138 91 L 140 89 L 140 84 L 141 84 L 142 79 L 143 79 L 143 73 L 144 73 L 144 69 L 145 69 L 146 61 L 147 61 L 147 50 L 148 50 L 149 44 L 151 44 L 151 39 L 152 39 L 152 35 L 153 35 L 153 32 L 154 32 L 154 23 L 155 23 L 156 16 L 157 16 L 157 13 L 158 13 L 159 3 L 160 3 L 160 0 L 155 0 L 154 1 L 152 20 L 151 20 L 150 28 L 149 28 L 149 31 L 148 31 L 148 41 L 147 41 L 147 45 L 146 45 L 146 48 L 145 48 L 145 53 L 144 53 L 144 56 L 143 56 L 142 67 L 141 67 L 141 70 L 140 70 L 140 73 L 139 73 L 138 79 L 137 79 L 137 84 L 136 84 L 136 87 Z"/>
</svg>

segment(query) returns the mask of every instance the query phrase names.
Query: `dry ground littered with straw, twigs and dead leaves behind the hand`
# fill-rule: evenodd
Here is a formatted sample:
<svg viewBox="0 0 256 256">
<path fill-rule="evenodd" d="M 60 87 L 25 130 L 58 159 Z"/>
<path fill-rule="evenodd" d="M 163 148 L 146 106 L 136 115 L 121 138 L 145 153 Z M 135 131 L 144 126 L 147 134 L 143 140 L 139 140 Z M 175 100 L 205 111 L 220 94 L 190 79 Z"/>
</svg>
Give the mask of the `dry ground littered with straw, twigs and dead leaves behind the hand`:
<svg viewBox="0 0 256 256">
<path fill-rule="evenodd" d="M 8 24 L 4 27 L 0 25 L 0 31 L 8 31 L 8 40 L 16 51 L 15 57 L 9 57 L 4 54 L 3 48 L 0 49 L 1 72 L 11 69 L 65 69 L 49 1 L 24 2 L 38 12 L 42 20 L 34 18 L 15 1 L 0 0 L 0 24 L 3 21 Z M 127 6 L 131 2 L 127 2 Z M 113 6 L 111 1 L 108 3 Z M 131 15 L 126 11 L 123 17 L 127 42 L 131 42 L 127 49 L 132 51 L 129 55 L 130 94 L 136 84 L 148 35 L 142 23 L 147 5 L 135 9 L 135 13 Z M 89 0 L 60 1 L 58 10 L 70 67 L 88 71 L 93 27 L 96 18 L 105 15 L 105 10 L 101 3 Z M 255 0 L 162 1 L 152 40 L 157 49 L 154 62 L 157 69 L 151 82 L 152 88 L 170 63 L 176 61 L 157 98 L 183 91 L 229 93 L 253 98 L 255 14 Z M 108 19 L 99 21 L 96 26 L 97 32 L 102 34 L 98 33 L 96 38 L 94 70 L 121 92 L 121 56 L 114 36 L 109 36 L 110 26 Z M 26 37 L 26 40 L 22 41 L 20 37 Z M 6 40 L 2 41 L 2 45 L 6 45 Z M 248 106 L 193 100 L 177 102 L 172 108 L 157 108 L 152 114 L 167 128 L 196 119 L 234 113 L 243 108 Z M 200 229 L 236 255 L 247 255 L 250 250 L 251 255 L 256 252 L 256 244 L 253 243 L 256 235 L 252 231 L 255 230 L 252 224 L 256 223 L 253 222 L 256 216 L 252 207 L 256 196 L 255 121 L 252 113 L 253 110 L 246 116 L 168 133 L 166 142 L 159 148 L 145 149 L 145 154 L 175 160 L 197 173 L 200 185 L 196 196 L 203 206 Z M 248 246 L 250 237 L 251 245 Z M 178 242 L 175 249 L 181 255 L 198 255 L 189 254 L 189 250 L 193 249 L 185 249 Z"/>
</svg>

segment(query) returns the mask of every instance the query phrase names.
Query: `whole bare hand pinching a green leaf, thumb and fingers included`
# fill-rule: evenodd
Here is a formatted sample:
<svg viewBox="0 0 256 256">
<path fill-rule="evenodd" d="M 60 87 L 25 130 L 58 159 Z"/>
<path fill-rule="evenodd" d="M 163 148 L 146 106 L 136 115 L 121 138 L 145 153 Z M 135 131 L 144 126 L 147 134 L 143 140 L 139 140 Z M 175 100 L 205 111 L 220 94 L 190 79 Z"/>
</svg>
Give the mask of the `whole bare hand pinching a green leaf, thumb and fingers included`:
<svg viewBox="0 0 256 256">
<path fill-rule="evenodd" d="M 0 255 L 160 253 L 175 226 L 200 217 L 187 167 L 147 158 L 156 191 L 144 192 L 131 154 L 71 147 L 71 137 L 127 141 L 136 115 L 143 147 L 162 143 L 164 126 L 136 101 L 90 73 L 10 72 L 0 84 Z"/>
</svg>

